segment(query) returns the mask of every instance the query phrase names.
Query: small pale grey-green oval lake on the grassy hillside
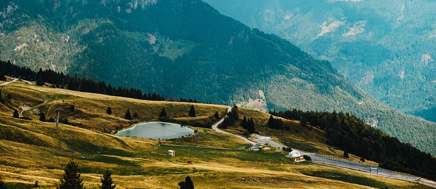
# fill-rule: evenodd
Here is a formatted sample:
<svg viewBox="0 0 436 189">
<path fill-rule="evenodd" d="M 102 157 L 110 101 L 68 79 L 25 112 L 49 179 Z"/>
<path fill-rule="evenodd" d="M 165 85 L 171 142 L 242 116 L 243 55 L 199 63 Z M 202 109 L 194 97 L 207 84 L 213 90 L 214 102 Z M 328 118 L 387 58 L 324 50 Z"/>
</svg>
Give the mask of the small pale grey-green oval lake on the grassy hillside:
<svg viewBox="0 0 436 189">
<path fill-rule="evenodd" d="M 116 135 L 123 137 L 163 139 L 177 138 L 188 134 L 194 134 L 194 130 L 177 124 L 148 122 L 118 131 Z"/>
</svg>

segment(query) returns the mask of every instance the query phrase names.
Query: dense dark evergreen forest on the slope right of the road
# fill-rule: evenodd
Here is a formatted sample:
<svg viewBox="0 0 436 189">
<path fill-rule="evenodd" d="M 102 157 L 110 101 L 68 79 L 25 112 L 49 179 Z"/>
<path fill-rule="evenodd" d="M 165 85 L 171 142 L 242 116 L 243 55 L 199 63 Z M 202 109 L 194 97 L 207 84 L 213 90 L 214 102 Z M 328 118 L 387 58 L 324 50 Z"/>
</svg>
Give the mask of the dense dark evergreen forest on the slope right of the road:
<svg viewBox="0 0 436 189">
<path fill-rule="evenodd" d="M 327 133 L 327 144 L 344 152 L 378 162 L 381 168 L 436 179 L 436 158 L 371 127 L 349 113 L 301 110 L 269 111 L 288 120 L 307 120 L 307 124 Z M 346 154 L 344 153 L 344 156 Z"/>
</svg>

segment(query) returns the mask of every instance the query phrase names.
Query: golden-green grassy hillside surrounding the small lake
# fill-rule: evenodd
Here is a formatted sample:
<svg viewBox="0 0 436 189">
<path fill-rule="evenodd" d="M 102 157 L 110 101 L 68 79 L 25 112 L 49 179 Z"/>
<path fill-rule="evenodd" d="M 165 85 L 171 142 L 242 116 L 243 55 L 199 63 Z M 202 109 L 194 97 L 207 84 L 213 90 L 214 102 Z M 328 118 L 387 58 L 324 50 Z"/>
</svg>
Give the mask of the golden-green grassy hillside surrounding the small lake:
<svg viewBox="0 0 436 189">
<path fill-rule="evenodd" d="M 9 186 L 26 188 L 26 184 L 40 182 L 41 188 L 55 188 L 54 184 L 63 173 L 65 163 L 71 158 L 79 162 L 83 168 L 82 177 L 87 188 L 95 188 L 106 168 L 113 170 L 117 188 L 177 188 L 177 183 L 190 176 L 196 188 L 416 188 L 426 189 L 428 186 L 418 185 L 397 179 L 375 177 L 351 170 L 334 168 L 310 162 L 294 163 L 281 151 L 213 151 L 204 149 L 159 147 L 157 140 L 136 137 L 119 137 L 101 131 L 100 117 L 109 122 L 122 121 L 127 125 L 138 120 L 157 116 L 161 107 L 165 107 L 170 117 L 177 119 L 203 119 L 213 116 L 215 111 L 225 111 L 224 106 L 210 104 L 194 104 L 199 117 L 187 116 L 191 103 L 154 102 L 135 100 L 124 97 L 105 96 L 99 94 L 75 92 L 65 89 L 53 89 L 45 86 L 33 86 L 23 82 L 14 82 L 1 87 L 3 97 L 11 93 L 7 106 L 0 105 L 0 172 Z M 27 94 L 33 94 L 28 96 Z M 44 103 L 45 100 L 48 100 Z M 63 100 L 63 101 L 62 101 Z M 38 120 L 23 120 L 12 117 L 12 108 L 19 106 L 42 106 L 31 108 L 29 117 L 34 118 L 36 110 L 46 111 L 53 115 L 61 104 L 75 104 L 74 112 L 64 110 L 61 118 L 68 118 L 72 123 L 89 122 L 89 129 Z M 66 107 L 68 107 L 66 106 Z M 107 115 L 106 106 L 113 107 L 114 114 Z M 126 108 L 141 112 L 138 120 L 128 121 L 121 117 Z M 325 144 L 322 131 L 308 130 L 299 127 L 297 122 L 286 120 L 300 131 L 276 132 L 264 128 L 268 114 L 240 109 L 240 116 L 254 117 L 255 127 L 261 133 L 274 136 L 286 135 L 287 140 L 307 143 L 317 148 L 320 154 L 341 158 L 342 151 L 330 149 Z M 84 119 L 89 117 L 89 119 Z M 107 125 L 107 127 L 106 127 Z M 111 129 L 105 124 L 106 129 Z M 232 127 L 233 128 L 233 127 Z M 198 128 L 200 132 L 199 146 L 218 148 L 246 148 L 245 141 L 228 134 L 221 134 L 211 129 Z M 239 127 L 233 129 L 238 130 Z M 96 131 L 97 130 L 97 131 Z M 274 133 L 275 132 L 275 133 Z M 278 134 L 278 135 L 276 135 Z M 315 140 L 310 139 L 310 136 Z M 169 144 L 194 145 L 193 137 L 169 140 Z M 175 150 L 176 156 L 166 155 L 168 150 Z M 354 161 L 358 157 L 351 157 Z M 192 164 L 187 164 L 191 160 Z M 61 162 L 61 163 L 60 163 Z"/>
</svg>

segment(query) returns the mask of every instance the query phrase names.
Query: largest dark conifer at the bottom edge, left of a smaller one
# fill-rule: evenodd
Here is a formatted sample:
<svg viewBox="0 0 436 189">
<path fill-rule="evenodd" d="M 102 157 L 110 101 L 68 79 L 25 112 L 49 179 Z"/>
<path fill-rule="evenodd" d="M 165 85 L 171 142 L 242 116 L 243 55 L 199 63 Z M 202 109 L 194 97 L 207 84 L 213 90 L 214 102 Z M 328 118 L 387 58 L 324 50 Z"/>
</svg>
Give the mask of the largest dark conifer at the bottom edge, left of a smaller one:
<svg viewBox="0 0 436 189">
<path fill-rule="evenodd" d="M 59 184 L 56 189 L 85 189 L 83 187 L 83 179 L 80 178 L 80 171 L 78 163 L 72 160 L 65 166 L 65 173 L 59 179 Z"/>
</svg>

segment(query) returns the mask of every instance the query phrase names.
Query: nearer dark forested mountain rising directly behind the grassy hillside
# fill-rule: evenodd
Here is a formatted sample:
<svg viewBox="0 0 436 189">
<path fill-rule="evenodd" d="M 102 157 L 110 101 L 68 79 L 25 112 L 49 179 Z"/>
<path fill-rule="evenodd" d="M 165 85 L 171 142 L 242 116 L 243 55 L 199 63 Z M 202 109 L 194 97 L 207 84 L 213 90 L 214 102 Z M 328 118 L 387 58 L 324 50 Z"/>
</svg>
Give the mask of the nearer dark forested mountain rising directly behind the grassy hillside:
<svg viewBox="0 0 436 189">
<path fill-rule="evenodd" d="M 330 62 L 202 1 L 13 0 L 0 7 L 0 58 L 16 65 L 264 111 L 350 112 L 436 153 L 435 123 L 378 103 Z"/>
</svg>

